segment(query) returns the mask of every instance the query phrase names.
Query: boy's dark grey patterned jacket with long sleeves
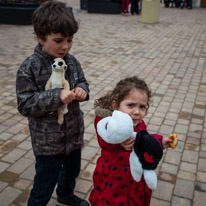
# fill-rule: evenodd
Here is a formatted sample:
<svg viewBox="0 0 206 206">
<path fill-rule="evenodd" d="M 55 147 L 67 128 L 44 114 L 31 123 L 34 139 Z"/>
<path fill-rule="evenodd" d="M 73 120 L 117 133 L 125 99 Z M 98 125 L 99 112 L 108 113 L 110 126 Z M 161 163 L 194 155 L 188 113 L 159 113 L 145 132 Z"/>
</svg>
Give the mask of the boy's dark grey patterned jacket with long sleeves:
<svg viewBox="0 0 206 206">
<path fill-rule="evenodd" d="M 38 44 L 34 54 L 20 66 L 16 79 L 16 94 L 19 112 L 28 117 L 32 146 L 35 155 L 69 154 L 83 145 L 84 122 L 79 102 L 68 104 L 64 123 L 57 122 L 57 108 L 62 106 L 59 88 L 45 91 L 51 75 L 53 57 L 43 53 Z M 88 83 L 80 63 L 67 54 L 64 58 L 68 65 L 65 78 L 70 89 L 81 87 L 87 92 Z"/>
</svg>

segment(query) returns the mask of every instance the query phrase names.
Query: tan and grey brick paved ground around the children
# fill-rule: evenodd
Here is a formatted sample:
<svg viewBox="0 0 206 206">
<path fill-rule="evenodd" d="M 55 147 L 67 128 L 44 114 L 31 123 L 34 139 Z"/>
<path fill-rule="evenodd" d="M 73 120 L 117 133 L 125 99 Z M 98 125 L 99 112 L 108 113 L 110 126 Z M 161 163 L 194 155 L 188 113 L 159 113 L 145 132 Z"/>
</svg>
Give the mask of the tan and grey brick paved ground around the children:
<svg viewBox="0 0 206 206">
<path fill-rule="evenodd" d="M 79 1 L 67 0 L 73 8 Z M 206 10 L 161 6 L 159 24 L 140 16 L 76 15 L 80 30 L 71 53 L 90 83 L 83 103 L 85 146 L 76 193 L 87 199 L 100 149 L 95 137 L 94 99 L 126 76 L 144 78 L 153 90 L 146 117 L 150 131 L 177 133 L 158 167 L 151 206 L 204 206 L 206 202 Z M 0 204 L 24 206 L 32 187 L 34 156 L 27 120 L 16 109 L 15 75 L 33 52 L 31 26 L 0 25 Z M 49 206 L 55 205 L 55 193 Z"/>
</svg>

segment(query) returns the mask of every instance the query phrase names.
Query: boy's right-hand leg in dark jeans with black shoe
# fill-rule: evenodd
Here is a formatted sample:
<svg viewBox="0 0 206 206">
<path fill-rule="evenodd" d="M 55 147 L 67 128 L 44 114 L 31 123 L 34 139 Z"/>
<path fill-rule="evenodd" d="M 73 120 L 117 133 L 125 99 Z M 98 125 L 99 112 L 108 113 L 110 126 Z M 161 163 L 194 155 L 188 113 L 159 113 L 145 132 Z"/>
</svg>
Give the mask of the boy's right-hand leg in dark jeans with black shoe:
<svg viewBox="0 0 206 206">
<path fill-rule="evenodd" d="M 81 149 L 72 151 L 65 155 L 63 167 L 61 168 L 58 187 L 57 205 L 89 206 L 89 203 L 74 195 L 75 180 L 81 169 Z"/>
</svg>

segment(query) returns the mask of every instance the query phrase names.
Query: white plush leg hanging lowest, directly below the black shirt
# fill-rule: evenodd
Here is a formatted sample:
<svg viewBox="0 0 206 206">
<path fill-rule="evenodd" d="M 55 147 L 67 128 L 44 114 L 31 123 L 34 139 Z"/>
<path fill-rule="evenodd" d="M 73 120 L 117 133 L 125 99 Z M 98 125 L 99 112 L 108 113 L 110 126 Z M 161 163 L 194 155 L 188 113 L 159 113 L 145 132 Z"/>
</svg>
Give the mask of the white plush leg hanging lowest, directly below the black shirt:
<svg viewBox="0 0 206 206">
<path fill-rule="evenodd" d="M 144 170 L 144 179 L 147 186 L 151 190 L 156 190 L 157 188 L 157 175 L 155 170 Z"/>
</svg>

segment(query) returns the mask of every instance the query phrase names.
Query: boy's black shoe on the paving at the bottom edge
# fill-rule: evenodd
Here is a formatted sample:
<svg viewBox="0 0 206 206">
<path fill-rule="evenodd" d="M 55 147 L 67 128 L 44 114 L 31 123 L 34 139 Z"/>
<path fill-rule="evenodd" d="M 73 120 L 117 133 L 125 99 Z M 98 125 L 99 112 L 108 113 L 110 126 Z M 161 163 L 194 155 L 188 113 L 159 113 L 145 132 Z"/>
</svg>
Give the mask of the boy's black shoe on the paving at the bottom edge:
<svg viewBox="0 0 206 206">
<path fill-rule="evenodd" d="M 57 197 L 56 206 L 89 206 L 89 203 L 83 199 L 80 199 L 76 195 L 72 195 L 66 199 Z"/>
</svg>

